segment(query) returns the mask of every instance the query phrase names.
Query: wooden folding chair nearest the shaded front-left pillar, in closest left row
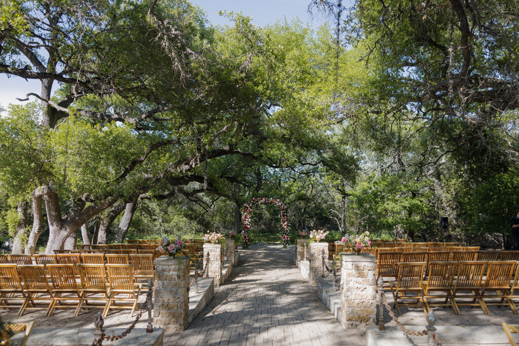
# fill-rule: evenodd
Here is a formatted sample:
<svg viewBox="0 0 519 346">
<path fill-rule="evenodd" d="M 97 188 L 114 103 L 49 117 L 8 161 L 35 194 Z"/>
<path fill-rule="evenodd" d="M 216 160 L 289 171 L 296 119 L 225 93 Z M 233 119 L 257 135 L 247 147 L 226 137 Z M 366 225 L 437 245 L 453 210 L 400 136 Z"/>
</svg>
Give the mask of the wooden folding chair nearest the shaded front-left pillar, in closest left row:
<svg viewBox="0 0 519 346">
<path fill-rule="evenodd" d="M 137 308 L 137 300 L 141 293 L 142 284 L 133 282 L 133 269 L 130 265 L 106 265 L 108 269 L 108 282 L 110 290 L 108 296 L 108 305 L 104 312 L 104 316 L 108 314 L 110 309 L 131 309 L 130 317 Z M 118 297 L 118 295 L 126 295 L 127 297 Z M 130 302 L 129 304 L 121 304 L 120 302 Z"/>
</svg>

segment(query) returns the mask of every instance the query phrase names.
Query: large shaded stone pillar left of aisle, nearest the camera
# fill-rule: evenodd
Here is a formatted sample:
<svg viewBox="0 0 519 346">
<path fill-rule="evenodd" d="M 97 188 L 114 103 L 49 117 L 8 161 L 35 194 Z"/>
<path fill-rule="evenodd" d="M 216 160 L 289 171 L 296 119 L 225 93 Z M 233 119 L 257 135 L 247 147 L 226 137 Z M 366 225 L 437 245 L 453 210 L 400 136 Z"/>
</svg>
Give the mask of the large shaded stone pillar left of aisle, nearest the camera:
<svg viewBox="0 0 519 346">
<path fill-rule="evenodd" d="M 184 330 L 189 313 L 189 259 L 160 256 L 155 266 L 153 324 L 165 330 Z"/>
</svg>

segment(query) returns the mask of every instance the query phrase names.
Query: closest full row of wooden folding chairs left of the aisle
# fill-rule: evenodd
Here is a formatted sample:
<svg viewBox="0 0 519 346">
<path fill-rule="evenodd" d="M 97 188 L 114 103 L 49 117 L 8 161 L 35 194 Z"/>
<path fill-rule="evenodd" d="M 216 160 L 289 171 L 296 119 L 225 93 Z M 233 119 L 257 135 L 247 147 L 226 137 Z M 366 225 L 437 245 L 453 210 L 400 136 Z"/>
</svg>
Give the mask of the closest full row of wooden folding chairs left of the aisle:
<svg viewBox="0 0 519 346">
<path fill-rule="evenodd" d="M 80 283 L 76 281 L 76 270 Z M 50 316 L 54 309 L 74 307 L 77 316 L 84 304 L 86 308 L 103 308 L 103 316 L 110 309 L 131 309 L 133 315 L 141 287 L 134 282 L 130 265 L 78 264 L 76 269 L 72 264 L 0 265 L 0 308 L 19 308 L 19 316 L 25 310 L 45 310 Z M 77 304 L 65 300 L 77 300 Z M 105 303 L 92 305 L 90 301 Z"/>
</svg>

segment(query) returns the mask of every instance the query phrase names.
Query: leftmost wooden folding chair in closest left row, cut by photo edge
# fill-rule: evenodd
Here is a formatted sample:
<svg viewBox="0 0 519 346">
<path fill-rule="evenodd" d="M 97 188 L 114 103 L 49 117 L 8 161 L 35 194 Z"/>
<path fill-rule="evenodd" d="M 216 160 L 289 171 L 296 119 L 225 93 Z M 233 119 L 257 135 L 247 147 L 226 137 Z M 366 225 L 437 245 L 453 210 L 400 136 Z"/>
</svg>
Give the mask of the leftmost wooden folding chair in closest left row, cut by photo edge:
<svg viewBox="0 0 519 346">
<path fill-rule="evenodd" d="M 25 302 L 25 290 L 20 281 L 16 264 L 0 264 L 0 309 L 18 309 L 18 315 Z M 15 304 L 14 302 L 20 302 Z"/>
</svg>

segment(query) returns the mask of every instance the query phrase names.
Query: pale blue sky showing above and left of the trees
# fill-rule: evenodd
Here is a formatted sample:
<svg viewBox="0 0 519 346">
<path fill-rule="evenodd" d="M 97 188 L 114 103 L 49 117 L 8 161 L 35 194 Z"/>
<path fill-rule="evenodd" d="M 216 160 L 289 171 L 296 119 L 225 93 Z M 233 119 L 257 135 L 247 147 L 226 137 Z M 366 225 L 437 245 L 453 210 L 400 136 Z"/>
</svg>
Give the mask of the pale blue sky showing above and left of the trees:
<svg viewBox="0 0 519 346">
<path fill-rule="evenodd" d="M 309 23 L 313 27 L 320 26 L 323 21 L 312 19 L 307 13 L 307 6 L 310 0 L 192 0 L 193 4 L 202 7 L 210 22 L 216 25 L 230 24 L 226 17 L 221 17 L 218 12 L 221 10 L 241 11 L 243 15 L 252 17 L 252 22 L 259 26 L 274 24 L 284 18 L 289 21 L 299 18 L 304 23 Z M 28 92 L 39 94 L 39 80 L 29 80 L 19 77 L 7 78 L 7 75 L 0 74 L 0 105 L 7 108 L 9 103 L 20 104 L 16 98 L 25 98 Z M 31 98 L 31 101 L 34 98 Z"/>
</svg>

